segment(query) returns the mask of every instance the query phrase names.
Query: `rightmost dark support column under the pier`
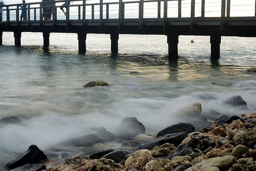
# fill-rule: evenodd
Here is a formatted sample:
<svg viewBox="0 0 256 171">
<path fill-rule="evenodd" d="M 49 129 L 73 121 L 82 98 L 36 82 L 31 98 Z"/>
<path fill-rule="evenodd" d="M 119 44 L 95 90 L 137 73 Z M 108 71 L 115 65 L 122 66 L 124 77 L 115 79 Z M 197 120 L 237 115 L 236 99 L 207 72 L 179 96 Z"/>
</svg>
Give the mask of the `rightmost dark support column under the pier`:
<svg viewBox="0 0 256 171">
<path fill-rule="evenodd" d="M 211 59 L 212 60 L 220 59 L 221 36 L 220 35 L 211 35 L 210 43 L 211 43 Z"/>
</svg>

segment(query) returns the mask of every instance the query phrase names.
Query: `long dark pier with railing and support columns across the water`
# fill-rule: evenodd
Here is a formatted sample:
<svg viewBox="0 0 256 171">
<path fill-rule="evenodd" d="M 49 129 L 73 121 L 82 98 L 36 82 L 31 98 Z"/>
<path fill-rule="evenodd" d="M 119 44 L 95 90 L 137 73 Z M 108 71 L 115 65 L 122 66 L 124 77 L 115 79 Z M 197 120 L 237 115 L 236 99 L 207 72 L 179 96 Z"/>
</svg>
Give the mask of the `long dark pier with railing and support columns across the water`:
<svg viewBox="0 0 256 171">
<path fill-rule="evenodd" d="M 205 35 L 210 36 L 211 59 L 217 60 L 221 36 L 256 37 L 256 0 L 240 5 L 236 0 L 68 0 L 66 15 L 60 10 L 64 2 L 26 3 L 24 21 L 22 4 L 0 6 L 0 45 L 4 31 L 14 33 L 16 46 L 22 32 L 42 32 L 45 46 L 50 45 L 50 33 L 77 33 L 78 51 L 85 53 L 86 35 L 100 33 L 110 34 L 111 51 L 117 52 L 119 34 L 166 35 L 169 58 L 178 59 L 179 35 Z"/>
</svg>

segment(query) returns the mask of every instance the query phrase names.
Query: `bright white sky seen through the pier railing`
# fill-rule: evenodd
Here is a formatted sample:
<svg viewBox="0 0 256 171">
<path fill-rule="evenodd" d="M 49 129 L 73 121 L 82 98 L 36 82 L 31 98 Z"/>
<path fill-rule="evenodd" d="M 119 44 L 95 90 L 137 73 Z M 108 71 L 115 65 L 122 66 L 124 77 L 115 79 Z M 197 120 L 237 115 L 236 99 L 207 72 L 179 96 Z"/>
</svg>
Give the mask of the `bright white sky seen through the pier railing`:
<svg viewBox="0 0 256 171">
<path fill-rule="evenodd" d="M 123 2 L 134 0 L 123 0 Z M 136 0 L 139 1 L 139 0 Z M 4 0 L 6 4 L 19 4 L 22 0 Z M 41 2 L 41 0 L 26 0 L 29 2 Z M 58 2 L 58 0 L 56 0 Z M 72 2 L 72 1 L 71 1 Z M 99 0 L 87 0 L 86 2 L 98 3 Z M 103 0 L 103 2 L 118 2 L 118 0 Z M 221 10 L 221 0 L 205 0 L 205 17 L 219 17 Z M 61 5 L 60 2 L 57 5 Z M 81 4 L 82 1 L 74 1 L 73 4 Z M 201 0 L 196 0 L 195 16 L 201 15 Z M 191 0 L 182 0 L 182 17 L 190 17 Z M 114 12 L 112 8 L 112 12 Z M 161 4 L 163 8 L 163 2 Z M 126 4 L 126 16 L 125 18 L 138 18 L 138 3 Z M 74 9 L 73 11 L 75 11 Z M 254 16 L 255 15 L 255 0 L 231 0 L 230 16 Z M 110 11 L 111 13 L 111 11 Z M 136 14 L 137 13 L 137 14 Z M 168 17 L 176 17 L 178 15 L 178 1 L 168 1 Z M 74 12 L 73 16 L 77 13 Z M 116 14 L 112 14 L 113 16 Z M 162 14 L 163 15 L 163 14 Z M 157 2 L 146 2 L 144 0 L 144 18 L 155 18 L 157 16 Z"/>
</svg>

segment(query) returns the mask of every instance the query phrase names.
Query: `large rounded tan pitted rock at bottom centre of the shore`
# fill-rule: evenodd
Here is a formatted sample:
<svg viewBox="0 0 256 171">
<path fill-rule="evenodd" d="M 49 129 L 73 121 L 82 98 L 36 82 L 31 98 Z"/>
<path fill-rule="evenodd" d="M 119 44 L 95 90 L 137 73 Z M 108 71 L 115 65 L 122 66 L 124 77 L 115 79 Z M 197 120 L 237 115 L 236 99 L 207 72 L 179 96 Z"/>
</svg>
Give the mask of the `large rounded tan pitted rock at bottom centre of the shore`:
<svg viewBox="0 0 256 171">
<path fill-rule="evenodd" d="M 126 159 L 124 167 L 127 169 L 143 170 L 143 167 L 151 160 L 153 160 L 151 152 L 147 149 L 140 149 L 132 153 L 128 159 Z M 126 170 L 127 170 L 126 169 Z"/>
</svg>

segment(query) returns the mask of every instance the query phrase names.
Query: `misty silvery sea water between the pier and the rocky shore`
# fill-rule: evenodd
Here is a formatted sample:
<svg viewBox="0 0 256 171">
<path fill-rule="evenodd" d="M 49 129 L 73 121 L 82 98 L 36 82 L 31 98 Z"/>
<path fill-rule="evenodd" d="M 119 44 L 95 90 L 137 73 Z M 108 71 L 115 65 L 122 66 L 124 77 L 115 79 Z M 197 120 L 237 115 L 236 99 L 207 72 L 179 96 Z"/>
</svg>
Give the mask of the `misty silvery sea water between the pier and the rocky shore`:
<svg viewBox="0 0 256 171">
<path fill-rule="evenodd" d="M 190 40 L 194 39 L 194 43 Z M 136 117 L 145 134 L 182 121 L 176 112 L 200 102 L 210 110 L 237 115 L 255 112 L 256 38 L 222 37 L 220 60 L 210 60 L 209 36 L 180 36 L 179 59 L 168 60 L 165 35 L 120 35 L 119 51 L 110 51 L 110 35 L 88 34 L 87 51 L 78 54 L 76 34 L 22 33 L 21 47 L 11 32 L 0 46 L 0 170 L 31 144 L 50 155 L 48 166 L 67 157 L 100 151 L 97 147 L 57 148 L 64 140 L 104 127 L 113 134 L 125 117 Z M 131 71 L 139 74 L 129 74 Z M 110 86 L 83 88 L 89 81 Z M 241 96 L 248 109 L 223 104 Z M 207 98 L 208 96 L 214 98 Z M 136 142 L 106 143 L 106 148 L 136 150 Z M 51 149 L 55 147 L 54 154 Z"/>
</svg>

